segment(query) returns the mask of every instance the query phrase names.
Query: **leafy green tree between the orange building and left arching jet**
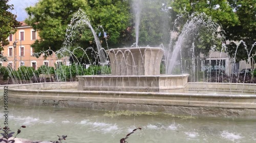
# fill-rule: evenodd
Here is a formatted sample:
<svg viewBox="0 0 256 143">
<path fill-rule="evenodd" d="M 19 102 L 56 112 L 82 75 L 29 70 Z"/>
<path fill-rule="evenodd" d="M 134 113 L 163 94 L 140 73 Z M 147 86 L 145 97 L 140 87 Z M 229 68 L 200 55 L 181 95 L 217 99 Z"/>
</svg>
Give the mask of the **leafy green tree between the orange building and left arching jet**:
<svg viewBox="0 0 256 143">
<path fill-rule="evenodd" d="M 32 45 L 35 52 L 60 49 L 67 25 L 79 8 L 89 9 L 83 0 L 42 0 L 26 8 L 29 17 L 25 22 L 39 31 L 40 39 Z"/>
</svg>

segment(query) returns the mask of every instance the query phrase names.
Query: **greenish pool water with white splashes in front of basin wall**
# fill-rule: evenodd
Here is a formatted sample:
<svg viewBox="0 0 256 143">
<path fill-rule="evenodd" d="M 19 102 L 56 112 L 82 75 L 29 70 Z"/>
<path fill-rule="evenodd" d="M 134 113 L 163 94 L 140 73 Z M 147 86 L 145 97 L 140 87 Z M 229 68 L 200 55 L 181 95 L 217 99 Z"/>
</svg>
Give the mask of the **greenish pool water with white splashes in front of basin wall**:
<svg viewBox="0 0 256 143">
<path fill-rule="evenodd" d="M 0 121 L 3 121 L 1 99 Z M 256 119 L 195 118 L 161 115 L 104 116 L 108 111 L 44 106 L 9 107 L 13 131 L 21 125 L 20 138 L 56 140 L 68 135 L 66 142 L 119 142 L 133 129 L 141 127 L 126 141 L 132 142 L 256 142 Z M 3 123 L 0 123 L 3 126 Z"/>
</svg>

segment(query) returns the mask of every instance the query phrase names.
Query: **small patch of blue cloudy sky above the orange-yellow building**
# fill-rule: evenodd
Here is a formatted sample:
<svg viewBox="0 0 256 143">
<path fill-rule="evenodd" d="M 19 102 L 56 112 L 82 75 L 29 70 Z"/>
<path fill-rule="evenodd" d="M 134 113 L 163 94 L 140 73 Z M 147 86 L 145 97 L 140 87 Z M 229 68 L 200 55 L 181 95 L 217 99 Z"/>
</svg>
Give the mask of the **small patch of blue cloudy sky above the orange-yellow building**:
<svg viewBox="0 0 256 143">
<path fill-rule="evenodd" d="M 25 8 L 34 6 L 37 1 L 38 0 L 10 0 L 9 4 L 14 6 L 11 12 L 17 15 L 17 21 L 24 21 L 28 17 Z"/>
</svg>

